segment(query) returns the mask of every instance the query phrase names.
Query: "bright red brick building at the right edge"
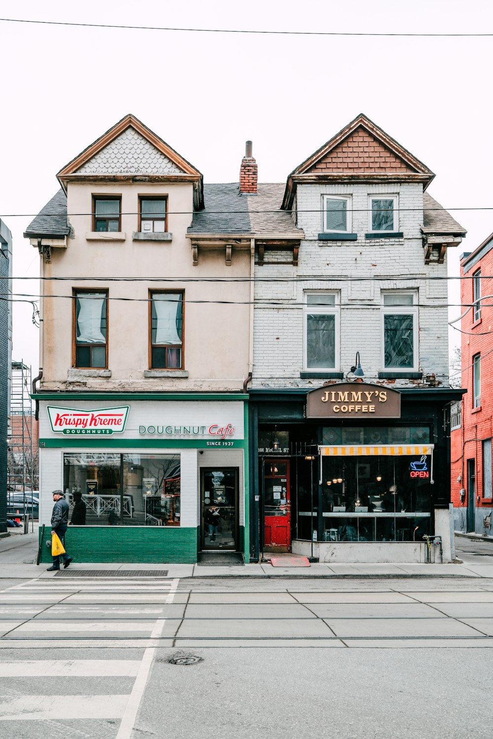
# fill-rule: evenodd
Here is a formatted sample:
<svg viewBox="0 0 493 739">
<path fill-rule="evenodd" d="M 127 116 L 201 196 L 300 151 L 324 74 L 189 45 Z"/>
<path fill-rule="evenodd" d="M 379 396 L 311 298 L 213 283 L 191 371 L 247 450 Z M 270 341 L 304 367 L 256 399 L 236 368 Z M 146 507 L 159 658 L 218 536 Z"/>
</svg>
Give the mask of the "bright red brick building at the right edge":
<svg viewBox="0 0 493 739">
<path fill-rule="evenodd" d="M 493 508 L 493 234 L 475 251 L 462 255 L 460 277 L 462 386 L 467 394 L 461 408 L 452 409 L 452 503 L 456 531 L 489 535 Z"/>
</svg>

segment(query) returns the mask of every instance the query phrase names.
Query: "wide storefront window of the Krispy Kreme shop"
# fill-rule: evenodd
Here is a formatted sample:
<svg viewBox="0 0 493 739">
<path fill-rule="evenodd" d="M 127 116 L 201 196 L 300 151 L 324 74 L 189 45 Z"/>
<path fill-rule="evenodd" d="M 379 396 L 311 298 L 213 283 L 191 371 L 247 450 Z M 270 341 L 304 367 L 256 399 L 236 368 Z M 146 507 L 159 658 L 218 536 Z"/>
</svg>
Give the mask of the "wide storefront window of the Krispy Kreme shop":
<svg viewBox="0 0 493 739">
<path fill-rule="evenodd" d="M 64 454 L 64 493 L 85 525 L 179 526 L 179 454 Z M 80 507 L 79 507 L 80 510 Z"/>
</svg>

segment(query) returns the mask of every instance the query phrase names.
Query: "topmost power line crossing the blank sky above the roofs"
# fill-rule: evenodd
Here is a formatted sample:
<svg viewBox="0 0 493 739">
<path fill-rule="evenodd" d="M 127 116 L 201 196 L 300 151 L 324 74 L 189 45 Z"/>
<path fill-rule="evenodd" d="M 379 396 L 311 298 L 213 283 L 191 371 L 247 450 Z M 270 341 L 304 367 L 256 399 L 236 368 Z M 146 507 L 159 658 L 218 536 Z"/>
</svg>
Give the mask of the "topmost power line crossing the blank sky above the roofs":
<svg viewBox="0 0 493 739">
<path fill-rule="evenodd" d="M 238 33 L 256 35 L 285 36 L 377 36 L 395 38 L 489 38 L 493 33 L 371 33 L 359 31 L 267 31 L 245 30 L 239 28 L 178 28 L 171 26 L 130 26 L 109 23 L 69 23 L 68 21 L 34 21 L 26 18 L 0 18 L 6 23 L 32 23 L 45 26 L 71 26 L 80 28 L 114 28 L 120 30 L 139 31 L 172 31 L 180 33 Z"/>
</svg>

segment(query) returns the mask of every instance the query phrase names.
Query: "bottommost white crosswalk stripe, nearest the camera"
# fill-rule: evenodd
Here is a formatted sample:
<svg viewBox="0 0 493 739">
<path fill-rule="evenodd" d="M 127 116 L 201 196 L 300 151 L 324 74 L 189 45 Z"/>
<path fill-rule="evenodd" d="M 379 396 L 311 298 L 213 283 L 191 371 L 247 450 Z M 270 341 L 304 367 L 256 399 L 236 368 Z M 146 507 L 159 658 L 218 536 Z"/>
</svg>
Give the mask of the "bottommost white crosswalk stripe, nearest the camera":
<svg viewBox="0 0 493 739">
<path fill-rule="evenodd" d="M 0 700 L 0 721 L 122 718 L 129 695 L 22 695 Z"/>
</svg>

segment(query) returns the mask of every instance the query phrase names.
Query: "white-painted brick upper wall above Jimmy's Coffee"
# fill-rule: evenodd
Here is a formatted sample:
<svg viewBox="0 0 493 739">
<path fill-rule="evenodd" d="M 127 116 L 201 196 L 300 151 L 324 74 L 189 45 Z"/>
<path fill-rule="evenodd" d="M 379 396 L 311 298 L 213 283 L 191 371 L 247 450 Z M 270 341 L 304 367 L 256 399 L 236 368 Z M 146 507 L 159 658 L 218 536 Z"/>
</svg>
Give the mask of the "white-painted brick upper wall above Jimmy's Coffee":
<svg viewBox="0 0 493 739">
<path fill-rule="evenodd" d="M 319 242 L 322 194 L 351 194 L 356 242 Z M 403 239 L 364 239 L 368 195 L 397 194 L 398 231 Z M 423 193 L 419 184 L 299 185 L 298 225 L 306 240 L 299 266 L 256 265 L 254 310 L 254 386 L 316 386 L 302 380 L 304 290 L 338 290 L 341 299 L 340 371 L 348 372 L 356 352 L 367 381 L 376 381 L 381 362 L 381 290 L 418 290 L 419 367 L 448 384 L 447 283 L 426 277 L 446 276 L 443 265 L 424 264 L 420 225 Z M 361 210 L 360 210 L 361 209 Z M 271 259 L 271 254 L 268 256 Z M 358 282 L 357 277 L 373 279 Z M 265 279 L 268 278 L 268 281 Z M 323 279 L 322 279 L 323 278 Z M 337 279 L 330 279 L 337 278 Z M 407 278 L 407 279 L 404 279 Z M 411 279 L 409 279 L 411 278 Z M 281 279 L 281 281 L 279 281 Z M 269 302 L 276 302 L 269 305 Z M 279 302 L 282 304 L 279 305 Z M 409 385 L 398 380 L 396 386 Z"/>
</svg>

